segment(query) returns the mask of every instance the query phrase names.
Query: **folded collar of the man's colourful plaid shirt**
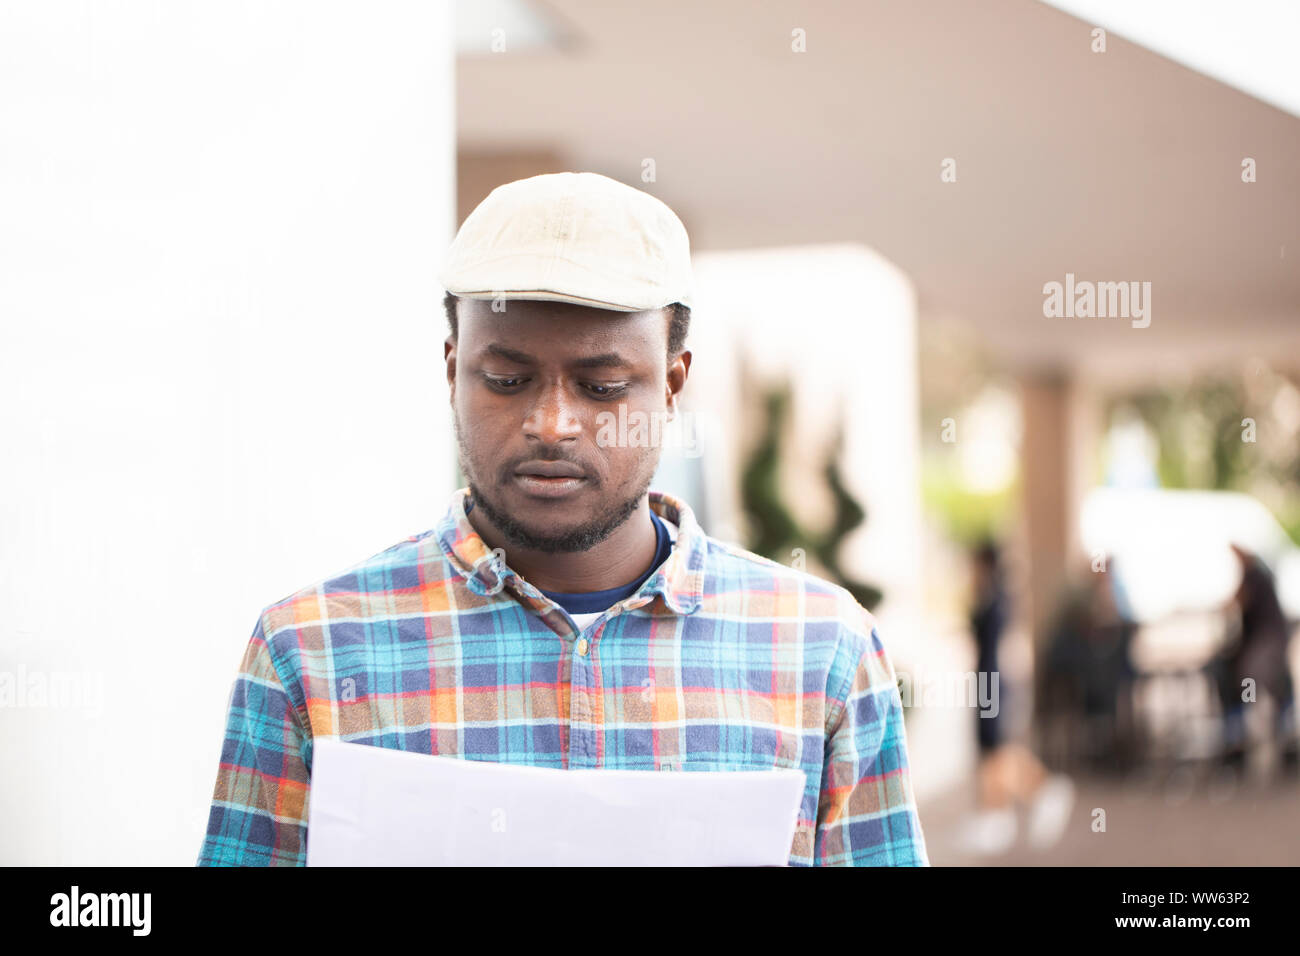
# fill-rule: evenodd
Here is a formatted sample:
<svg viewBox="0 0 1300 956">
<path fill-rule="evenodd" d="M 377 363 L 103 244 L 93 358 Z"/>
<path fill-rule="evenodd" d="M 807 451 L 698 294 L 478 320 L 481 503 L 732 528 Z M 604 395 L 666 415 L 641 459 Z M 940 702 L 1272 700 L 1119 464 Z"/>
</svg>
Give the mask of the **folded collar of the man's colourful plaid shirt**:
<svg viewBox="0 0 1300 956">
<path fill-rule="evenodd" d="M 452 493 L 447 512 L 437 527 L 438 544 L 465 584 L 476 594 L 497 594 L 511 591 L 526 596 L 530 602 L 549 600 L 517 572 L 506 564 L 500 553 L 493 551 L 474 531 L 465 515 L 469 489 Z M 630 610 L 649 604 L 655 594 L 677 614 L 690 614 L 703 600 L 705 555 L 707 541 L 696 515 L 685 501 L 664 492 L 650 492 L 650 509 L 664 520 L 677 525 L 677 541 L 668 559 L 655 570 L 636 594 L 625 598 Z"/>
</svg>

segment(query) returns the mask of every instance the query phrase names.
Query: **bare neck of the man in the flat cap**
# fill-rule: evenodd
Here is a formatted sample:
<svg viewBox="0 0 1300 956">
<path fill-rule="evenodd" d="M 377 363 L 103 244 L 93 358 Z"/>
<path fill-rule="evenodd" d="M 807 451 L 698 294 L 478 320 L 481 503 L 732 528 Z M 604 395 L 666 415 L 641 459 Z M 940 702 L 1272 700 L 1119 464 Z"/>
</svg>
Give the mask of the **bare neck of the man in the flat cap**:
<svg viewBox="0 0 1300 956">
<path fill-rule="evenodd" d="M 506 551 L 506 563 L 541 591 L 580 594 L 619 588 L 645 574 L 655 555 L 647 497 L 628 520 L 586 551 L 538 551 L 514 545 L 477 507 L 469 512 L 469 523 L 484 544 Z"/>
</svg>

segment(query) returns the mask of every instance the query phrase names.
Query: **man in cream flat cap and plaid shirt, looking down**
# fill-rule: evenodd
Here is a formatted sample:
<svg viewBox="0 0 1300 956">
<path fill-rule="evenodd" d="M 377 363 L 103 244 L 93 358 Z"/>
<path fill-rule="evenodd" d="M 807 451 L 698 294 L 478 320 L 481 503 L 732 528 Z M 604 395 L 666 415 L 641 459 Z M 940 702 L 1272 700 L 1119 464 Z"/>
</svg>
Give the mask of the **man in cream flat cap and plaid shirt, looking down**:
<svg viewBox="0 0 1300 956">
<path fill-rule="evenodd" d="M 620 406 L 677 414 L 680 220 L 603 176 L 536 176 L 471 213 L 439 280 L 468 488 L 437 528 L 263 611 L 199 862 L 302 865 L 312 741 L 338 736 L 564 769 L 796 767 L 790 864 L 928 865 L 871 615 L 705 535 L 650 490 L 659 449 L 602 428 Z"/>
</svg>

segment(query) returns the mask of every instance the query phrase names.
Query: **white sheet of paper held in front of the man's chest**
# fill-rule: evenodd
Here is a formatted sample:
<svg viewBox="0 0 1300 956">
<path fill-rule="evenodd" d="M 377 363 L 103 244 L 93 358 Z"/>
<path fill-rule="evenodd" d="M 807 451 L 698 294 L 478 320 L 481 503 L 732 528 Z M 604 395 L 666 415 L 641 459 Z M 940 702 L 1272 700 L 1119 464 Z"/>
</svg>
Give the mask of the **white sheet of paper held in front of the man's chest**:
<svg viewBox="0 0 1300 956">
<path fill-rule="evenodd" d="M 313 750 L 308 866 L 784 866 L 806 782 Z"/>
</svg>

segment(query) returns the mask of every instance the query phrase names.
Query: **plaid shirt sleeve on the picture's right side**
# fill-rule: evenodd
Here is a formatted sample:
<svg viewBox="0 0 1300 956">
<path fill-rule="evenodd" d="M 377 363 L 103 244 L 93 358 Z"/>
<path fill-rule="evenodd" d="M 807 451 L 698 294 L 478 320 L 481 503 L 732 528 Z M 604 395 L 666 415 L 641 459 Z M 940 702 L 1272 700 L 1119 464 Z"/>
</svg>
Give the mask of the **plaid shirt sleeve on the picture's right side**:
<svg viewBox="0 0 1300 956">
<path fill-rule="evenodd" d="M 866 614 L 866 611 L 863 611 Z M 902 697 L 875 623 L 841 644 L 827 714 L 814 865 L 930 866 L 911 790 Z M 838 671 L 838 674 L 837 674 Z"/>
</svg>

